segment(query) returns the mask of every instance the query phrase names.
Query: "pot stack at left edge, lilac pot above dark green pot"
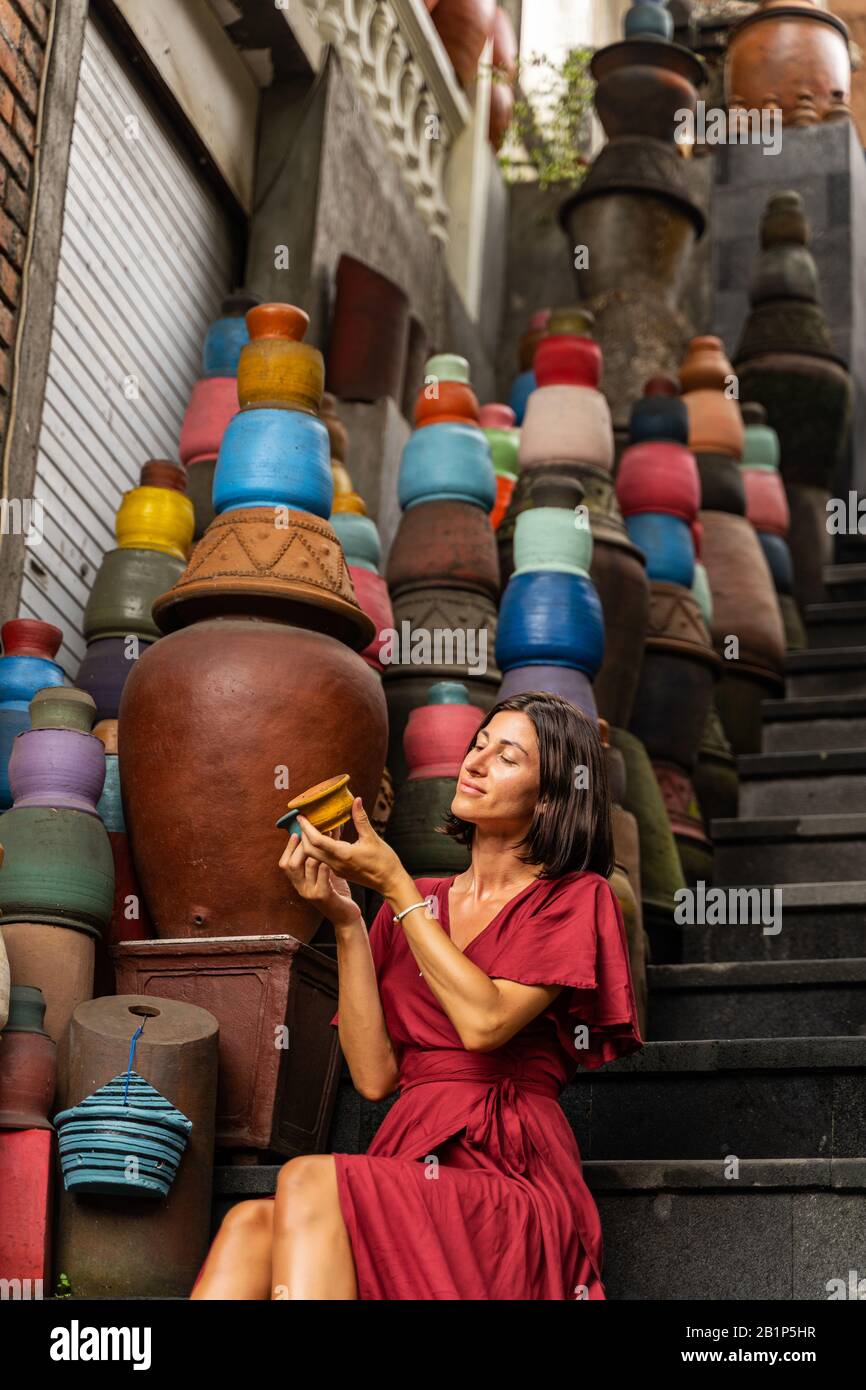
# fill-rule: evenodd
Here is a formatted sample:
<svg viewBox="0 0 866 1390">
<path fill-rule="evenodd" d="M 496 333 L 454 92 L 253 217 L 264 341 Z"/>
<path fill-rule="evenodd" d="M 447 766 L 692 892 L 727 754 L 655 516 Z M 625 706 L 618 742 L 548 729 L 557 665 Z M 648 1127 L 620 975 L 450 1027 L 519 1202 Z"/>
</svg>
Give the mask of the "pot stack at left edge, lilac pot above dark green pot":
<svg viewBox="0 0 866 1390">
<path fill-rule="evenodd" d="M 93 992 L 96 941 L 114 902 L 114 862 L 97 812 L 103 744 L 85 691 L 49 687 L 10 758 L 15 798 L 0 817 L 0 930 L 14 983 L 36 986 L 46 1029 L 63 1042 L 72 1009 Z"/>
</svg>

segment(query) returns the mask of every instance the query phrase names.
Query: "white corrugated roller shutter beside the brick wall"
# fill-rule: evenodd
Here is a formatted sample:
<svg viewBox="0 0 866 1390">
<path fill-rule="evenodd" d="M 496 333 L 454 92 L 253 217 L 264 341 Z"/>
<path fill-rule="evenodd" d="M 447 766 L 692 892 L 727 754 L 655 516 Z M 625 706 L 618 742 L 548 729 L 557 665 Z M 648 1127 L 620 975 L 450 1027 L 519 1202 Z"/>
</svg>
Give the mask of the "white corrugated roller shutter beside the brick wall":
<svg viewBox="0 0 866 1390">
<path fill-rule="evenodd" d="M 217 196 L 88 21 L 36 467 L 44 538 L 28 545 L 19 607 L 63 630 L 72 678 L 121 493 L 146 459 L 177 459 L 232 252 Z"/>
</svg>

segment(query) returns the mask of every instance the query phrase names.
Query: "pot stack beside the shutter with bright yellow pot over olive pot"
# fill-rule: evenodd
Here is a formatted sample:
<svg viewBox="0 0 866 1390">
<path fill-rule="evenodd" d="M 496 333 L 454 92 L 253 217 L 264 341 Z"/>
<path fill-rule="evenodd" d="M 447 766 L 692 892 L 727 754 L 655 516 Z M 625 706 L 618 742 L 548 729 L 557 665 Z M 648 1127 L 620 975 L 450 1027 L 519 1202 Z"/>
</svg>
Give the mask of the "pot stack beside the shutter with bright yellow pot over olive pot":
<svg viewBox="0 0 866 1390">
<path fill-rule="evenodd" d="M 183 468 L 150 459 L 121 499 L 117 549 L 103 559 L 85 609 L 88 649 L 76 684 L 93 696 L 97 719 L 117 719 L 129 671 L 160 635 L 153 602 L 181 578 L 193 525 Z"/>
</svg>

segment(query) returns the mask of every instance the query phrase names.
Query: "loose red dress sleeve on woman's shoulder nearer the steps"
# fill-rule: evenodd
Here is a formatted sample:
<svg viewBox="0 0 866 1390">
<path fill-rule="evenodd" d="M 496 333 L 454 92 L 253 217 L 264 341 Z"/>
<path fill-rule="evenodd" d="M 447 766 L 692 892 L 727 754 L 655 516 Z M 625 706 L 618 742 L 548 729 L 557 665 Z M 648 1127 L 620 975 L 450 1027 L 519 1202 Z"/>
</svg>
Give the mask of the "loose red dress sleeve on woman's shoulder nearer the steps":
<svg viewBox="0 0 866 1390">
<path fill-rule="evenodd" d="M 491 976 L 567 987 L 553 1012 L 577 1066 L 595 1069 L 644 1045 L 623 913 L 599 874 L 570 878 L 559 891 L 553 880 L 544 905 L 510 933 Z"/>
</svg>

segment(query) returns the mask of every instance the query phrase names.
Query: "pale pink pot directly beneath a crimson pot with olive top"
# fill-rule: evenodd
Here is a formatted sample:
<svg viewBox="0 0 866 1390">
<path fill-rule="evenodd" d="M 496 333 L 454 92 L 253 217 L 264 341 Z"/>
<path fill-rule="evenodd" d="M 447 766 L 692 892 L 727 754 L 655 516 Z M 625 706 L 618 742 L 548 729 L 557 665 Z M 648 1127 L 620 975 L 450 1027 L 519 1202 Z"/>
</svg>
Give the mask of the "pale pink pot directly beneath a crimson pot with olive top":
<svg viewBox="0 0 866 1390">
<path fill-rule="evenodd" d="M 539 386 L 527 402 L 520 431 L 520 466 L 592 463 L 613 467 L 613 424 L 601 391 Z"/>
</svg>

